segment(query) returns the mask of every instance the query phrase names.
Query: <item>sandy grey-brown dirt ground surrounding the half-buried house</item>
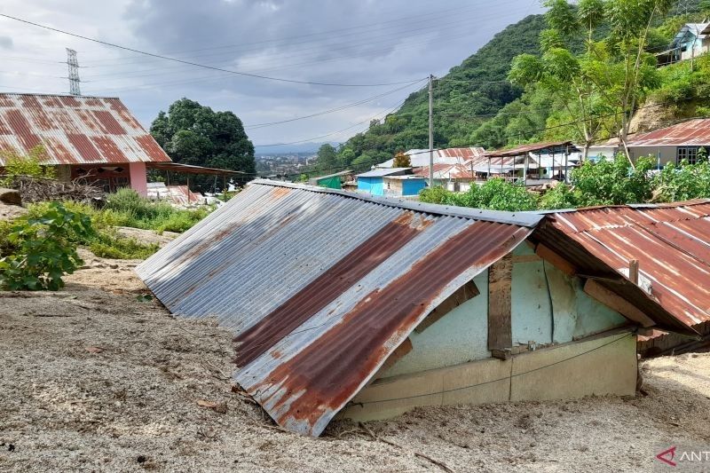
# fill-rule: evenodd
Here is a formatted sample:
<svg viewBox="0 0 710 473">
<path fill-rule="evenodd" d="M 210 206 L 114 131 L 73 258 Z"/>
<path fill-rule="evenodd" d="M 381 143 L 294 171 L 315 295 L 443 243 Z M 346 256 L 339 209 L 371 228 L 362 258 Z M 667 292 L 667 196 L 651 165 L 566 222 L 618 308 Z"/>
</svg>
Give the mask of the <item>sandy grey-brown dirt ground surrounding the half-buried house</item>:
<svg viewBox="0 0 710 473">
<path fill-rule="evenodd" d="M 710 444 L 710 354 L 644 362 L 645 397 L 428 407 L 305 438 L 233 392 L 226 330 L 138 300 L 138 262 L 83 256 L 58 293 L 0 293 L 2 471 L 597 473 Z"/>
</svg>

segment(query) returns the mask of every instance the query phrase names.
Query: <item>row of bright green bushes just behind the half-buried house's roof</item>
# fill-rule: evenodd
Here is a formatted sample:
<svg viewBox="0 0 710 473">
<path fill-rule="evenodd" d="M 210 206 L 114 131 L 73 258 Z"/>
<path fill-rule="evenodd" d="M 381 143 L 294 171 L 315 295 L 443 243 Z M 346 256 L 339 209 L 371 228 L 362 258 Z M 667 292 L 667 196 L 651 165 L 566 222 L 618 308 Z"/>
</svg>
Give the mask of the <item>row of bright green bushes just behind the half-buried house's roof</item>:
<svg viewBox="0 0 710 473">
<path fill-rule="evenodd" d="M 560 184 L 541 197 L 522 185 L 491 179 L 466 193 L 434 187 L 420 193 L 420 201 L 494 210 L 573 209 L 596 205 L 685 201 L 710 198 L 710 162 L 669 165 L 654 174 L 654 160 L 640 158 L 632 167 L 626 156 L 585 162 L 571 173 L 571 185 Z"/>
</svg>

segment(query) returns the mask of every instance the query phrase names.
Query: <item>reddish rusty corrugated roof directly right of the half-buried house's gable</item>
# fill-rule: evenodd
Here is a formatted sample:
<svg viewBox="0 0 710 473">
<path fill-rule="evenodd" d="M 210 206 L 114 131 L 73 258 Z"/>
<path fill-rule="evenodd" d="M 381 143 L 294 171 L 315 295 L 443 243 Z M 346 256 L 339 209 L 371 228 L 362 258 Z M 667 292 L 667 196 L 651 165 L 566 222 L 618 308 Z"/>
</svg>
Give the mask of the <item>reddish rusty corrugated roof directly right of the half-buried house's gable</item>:
<svg viewBox="0 0 710 473">
<path fill-rule="evenodd" d="M 625 275 L 629 260 L 651 296 L 692 327 L 710 320 L 710 201 L 552 214 L 551 224 Z"/>
</svg>

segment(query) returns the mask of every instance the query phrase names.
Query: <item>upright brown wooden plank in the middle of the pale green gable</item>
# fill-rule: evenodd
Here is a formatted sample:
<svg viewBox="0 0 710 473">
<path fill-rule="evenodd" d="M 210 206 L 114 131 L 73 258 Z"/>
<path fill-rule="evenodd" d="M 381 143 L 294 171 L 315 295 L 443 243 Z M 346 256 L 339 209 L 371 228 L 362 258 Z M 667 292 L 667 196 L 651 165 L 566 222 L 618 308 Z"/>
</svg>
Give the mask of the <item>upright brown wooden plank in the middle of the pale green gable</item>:
<svg viewBox="0 0 710 473">
<path fill-rule="evenodd" d="M 513 260 L 503 256 L 488 268 L 488 350 L 505 350 L 513 344 L 510 324 Z"/>
</svg>

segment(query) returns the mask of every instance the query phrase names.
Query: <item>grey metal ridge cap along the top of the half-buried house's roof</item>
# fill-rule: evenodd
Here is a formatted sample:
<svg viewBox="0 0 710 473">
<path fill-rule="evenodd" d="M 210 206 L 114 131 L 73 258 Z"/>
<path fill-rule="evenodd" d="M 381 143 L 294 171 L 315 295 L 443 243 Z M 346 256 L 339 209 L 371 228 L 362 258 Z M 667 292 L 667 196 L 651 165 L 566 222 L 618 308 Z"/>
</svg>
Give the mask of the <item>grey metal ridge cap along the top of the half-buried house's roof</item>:
<svg viewBox="0 0 710 473">
<path fill-rule="evenodd" d="M 473 220 L 483 220 L 486 222 L 495 222 L 499 224 L 509 224 L 525 226 L 533 228 L 540 223 L 540 220 L 545 217 L 537 212 L 505 212 L 502 210 L 487 210 L 487 209 L 469 209 L 467 207 L 455 207 L 448 205 L 439 205 L 432 203 L 423 203 L 419 201 L 406 201 L 404 199 L 392 199 L 388 197 L 377 197 L 362 193 L 351 193 L 340 191 L 337 189 L 327 189 L 325 187 L 317 187 L 314 185 L 294 184 L 282 181 L 272 181 L 270 179 L 255 179 L 248 184 L 258 185 L 273 185 L 274 187 L 288 187 L 290 189 L 299 189 L 302 191 L 310 191 L 314 193 L 333 193 L 358 199 L 360 201 L 372 202 L 375 204 L 396 207 L 398 209 L 414 210 L 426 214 L 445 215 L 450 217 L 470 218 Z"/>
</svg>

